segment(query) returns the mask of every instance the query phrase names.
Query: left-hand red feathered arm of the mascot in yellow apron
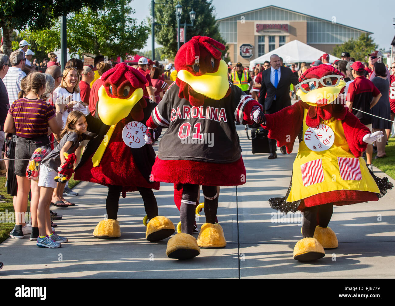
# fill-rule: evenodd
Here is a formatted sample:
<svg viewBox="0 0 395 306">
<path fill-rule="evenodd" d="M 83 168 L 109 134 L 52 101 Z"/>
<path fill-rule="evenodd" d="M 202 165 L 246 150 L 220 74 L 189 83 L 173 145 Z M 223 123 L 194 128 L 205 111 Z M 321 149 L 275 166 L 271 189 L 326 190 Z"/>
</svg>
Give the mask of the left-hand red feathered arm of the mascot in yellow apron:
<svg viewBox="0 0 395 306">
<path fill-rule="evenodd" d="M 292 152 L 302 127 L 303 110 L 303 106 L 296 102 L 274 114 L 265 115 L 266 125 L 262 127 L 269 131 L 268 137 L 277 140 L 278 147 L 285 145 L 288 153 Z"/>
</svg>

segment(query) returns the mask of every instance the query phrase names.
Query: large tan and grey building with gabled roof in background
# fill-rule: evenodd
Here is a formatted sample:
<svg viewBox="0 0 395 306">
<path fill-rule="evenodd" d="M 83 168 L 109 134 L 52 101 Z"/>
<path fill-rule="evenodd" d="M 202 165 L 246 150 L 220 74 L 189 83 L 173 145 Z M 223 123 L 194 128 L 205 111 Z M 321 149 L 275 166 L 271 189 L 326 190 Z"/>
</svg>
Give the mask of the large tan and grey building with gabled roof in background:
<svg viewBox="0 0 395 306">
<path fill-rule="evenodd" d="M 292 40 L 331 53 L 333 47 L 350 38 L 372 34 L 341 25 L 335 16 L 328 21 L 273 5 L 221 18 L 217 22 L 229 45 L 231 61 L 243 64 Z"/>
</svg>

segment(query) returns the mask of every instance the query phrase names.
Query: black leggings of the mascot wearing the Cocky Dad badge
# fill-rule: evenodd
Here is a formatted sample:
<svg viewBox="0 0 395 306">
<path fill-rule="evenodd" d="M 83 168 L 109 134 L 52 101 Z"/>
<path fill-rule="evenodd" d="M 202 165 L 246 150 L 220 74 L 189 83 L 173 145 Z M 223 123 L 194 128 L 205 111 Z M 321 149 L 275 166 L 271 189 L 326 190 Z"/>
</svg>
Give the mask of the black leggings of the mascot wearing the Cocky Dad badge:
<svg viewBox="0 0 395 306">
<path fill-rule="evenodd" d="M 144 201 L 145 213 L 148 219 L 152 219 L 158 215 L 158 204 L 152 189 L 137 187 L 141 197 Z M 107 209 L 108 219 L 118 218 L 119 197 L 122 191 L 122 186 L 111 185 L 108 187 L 107 200 L 105 201 L 105 208 Z"/>
</svg>

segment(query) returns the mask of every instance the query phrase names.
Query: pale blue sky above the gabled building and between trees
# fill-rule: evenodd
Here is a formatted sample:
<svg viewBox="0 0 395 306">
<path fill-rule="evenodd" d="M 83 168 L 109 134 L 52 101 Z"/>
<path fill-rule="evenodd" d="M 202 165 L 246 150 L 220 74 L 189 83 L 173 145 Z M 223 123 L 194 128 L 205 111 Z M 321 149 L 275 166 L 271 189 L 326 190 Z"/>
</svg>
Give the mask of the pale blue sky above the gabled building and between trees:
<svg viewBox="0 0 395 306">
<path fill-rule="evenodd" d="M 161 0 L 156 1 L 162 2 Z M 243 3 L 242 7 L 240 3 Z M 328 5 L 325 6 L 324 3 L 328 3 Z M 138 21 L 146 20 L 146 16 L 150 15 L 150 5 L 150 0 L 132 1 L 131 6 L 136 11 L 133 17 L 137 18 Z M 389 50 L 389 43 L 391 43 L 395 35 L 395 28 L 392 25 L 392 19 L 395 18 L 394 0 L 343 0 L 333 3 L 329 1 L 295 0 L 282 0 L 281 2 L 213 0 L 216 18 L 223 18 L 269 5 L 279 6 L 280 8 L 290 9 L 329 21 L 332 19 L 332 16 L 336 16 L 337 23 L 373 32 L 372 38 L 374 42 L 379 45 L 379 48 L 385 50 Z M 150 37 L 147 40 L 147 46 L 143 49 L 151 50 Z"/>
</svg>

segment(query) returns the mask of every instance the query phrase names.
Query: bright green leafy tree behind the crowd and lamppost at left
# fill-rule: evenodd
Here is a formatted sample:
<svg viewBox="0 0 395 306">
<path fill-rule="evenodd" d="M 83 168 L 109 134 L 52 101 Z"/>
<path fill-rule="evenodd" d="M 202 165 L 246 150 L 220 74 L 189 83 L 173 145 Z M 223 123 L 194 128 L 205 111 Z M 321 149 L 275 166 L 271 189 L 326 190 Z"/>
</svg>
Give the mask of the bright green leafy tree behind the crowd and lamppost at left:
<svg viewBox="0 0 395 306">
<path fill-rule="evenodd" d="M 131 15 L 134 10 L 127 0 L 105 0 L 99 10 L 83 7 L 67 17 L 67 47 L 70 55 L 103 54 L 109 58 L 134 54 L 145 46 L 149 28 L 137 24 Z M 35 41 L 39 50 L 50 52 L 60 49 L 60 24 L 52 20 L 45 30 L 25 30 L 19 34 Z M 88 55 L 89 56 L 89 55 Z"/>
</svg>

